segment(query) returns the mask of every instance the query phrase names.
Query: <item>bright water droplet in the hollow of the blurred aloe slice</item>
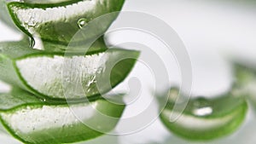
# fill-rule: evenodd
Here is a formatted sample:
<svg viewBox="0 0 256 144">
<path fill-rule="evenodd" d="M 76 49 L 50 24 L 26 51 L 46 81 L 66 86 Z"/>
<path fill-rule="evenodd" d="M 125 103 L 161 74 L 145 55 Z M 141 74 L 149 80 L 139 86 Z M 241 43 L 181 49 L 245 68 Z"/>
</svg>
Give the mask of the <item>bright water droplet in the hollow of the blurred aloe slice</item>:
<svg viewBox="0 0 256 144">
<path fill-rule="evenodd" d="M 193 113 L 196 115 L 196 116 L 200 116 L 200 117 L 203 117 L 203 116 L 208 116 L 208 115 L 211 115 L 213 112 L 213 109 L 212 107 L 210 106 L 209 102 L 207 101 L 207 99 L 203 98 L 203 97 L 200 97 L 200 98 L 197 98 L 195 101 L 194 101 L 194 110 L 193 110 Z"/>
</svg>

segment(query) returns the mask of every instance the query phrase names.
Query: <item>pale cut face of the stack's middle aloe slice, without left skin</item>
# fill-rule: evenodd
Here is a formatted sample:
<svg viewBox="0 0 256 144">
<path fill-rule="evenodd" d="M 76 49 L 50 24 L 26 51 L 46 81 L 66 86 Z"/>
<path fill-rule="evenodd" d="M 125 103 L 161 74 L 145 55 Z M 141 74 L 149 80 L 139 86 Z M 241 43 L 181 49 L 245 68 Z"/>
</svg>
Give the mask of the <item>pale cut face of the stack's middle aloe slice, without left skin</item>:
<svg viewBox="0 0 256 144">
<path fill-rule="evenodd" d="M 112 86 L 119 84 L 131 72 L 137 58 L 137 51 L 123 49 L 109 49 L 92 55 L 30 55 L 15 61 L 20 77 L 38 93 L 49 95 L 52 98 L 63 97 L 63 81 L 67 79 L 70 87 L 66 93 L 76 93 L 70 99 L 79 99 L 86 96 L 98 95 L 97 79 L 108 77 L 108 71 L 113 62 L 123 56 L 131 55 L 134 59 L 122 60 L 112 69 L 110 82 Z M 65 62 L 65 63 L 64 63 Z M 64 63 L 64 64 L 63 64 Z M 38 67 L 40 66 L 40 67 Z M 61 72 L 65 71 L 65 72 Z M 109 78 L 109 77 L 108 77 Z M 64 82 L 65 83 L 65 82 Z M 77 88 L 82 84 L 83 89 Z M 108 92 L 112 88 L 100 88 L 101 92 Z"/>
</svg>

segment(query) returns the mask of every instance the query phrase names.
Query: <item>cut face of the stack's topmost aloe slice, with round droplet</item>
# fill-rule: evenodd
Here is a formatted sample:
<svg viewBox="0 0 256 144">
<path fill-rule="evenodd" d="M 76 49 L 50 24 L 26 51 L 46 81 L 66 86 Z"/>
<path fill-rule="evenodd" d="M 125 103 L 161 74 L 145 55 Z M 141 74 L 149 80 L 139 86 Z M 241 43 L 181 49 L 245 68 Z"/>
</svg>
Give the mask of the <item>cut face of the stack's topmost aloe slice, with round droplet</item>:
<svg viewBox="0 0 256 144">
<path fill-rule="evenodd" d="M 84 24 L 103 14 L 119 11 L 124 0 L 73 0 L 61 4 L 8 3 L 9 13 L 16 26 L 28 36 L 38 35 L 43 40 L 55 43 L 69 43 Z M 107 31 L 118 14 L 96 23 L 96 35 Z M 84 25 L 83 24 L 83 25 Z M 94 38 L 92 37 L 81 37 Z"/>
</svg>

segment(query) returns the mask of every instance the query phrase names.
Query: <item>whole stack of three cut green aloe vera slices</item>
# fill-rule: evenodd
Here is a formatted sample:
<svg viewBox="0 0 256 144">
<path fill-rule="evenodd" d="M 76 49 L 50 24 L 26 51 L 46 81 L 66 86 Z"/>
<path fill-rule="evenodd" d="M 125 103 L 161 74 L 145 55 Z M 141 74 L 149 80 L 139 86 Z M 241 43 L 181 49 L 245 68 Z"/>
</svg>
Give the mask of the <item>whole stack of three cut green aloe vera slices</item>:
<svg viewBox="0 0 256 144">
<path fill-rule="evenodd" d="M 113 130 L 125 105 L 113 104 L 102 95 L 126 78 L 139 53 L 108 49 L 102 37 L 85 55 L 79 48 L 68 54 L 65 50 L 83 24 L 119 11 L 123 3 L 124 0 L 1 1 L 8 9 L 9 20 L 31 39 L 36 35 L 44 43 L 44 50 L 32 49 L 26 38 L 0 43 L 0 79 L 13 86 L 11 92 L 0 95 L 0 116 L 11 135 L 25 143 L 55 144 L 85 141 Z M 107 31 L 116 17 L 114 14 L 99 24 L 96 34 Z M 8 19 L 3 20 L 9 23 Z M 90 38 L 94 37 L 79 41 Z M 125 56 L 134 59 L 123 60 Z M 106 78 L 110 87 L 101 84 L 98 88 L 97 80 Z M 63 87 L 63 81 L 67 87 Z M 87 101 L 80 101 L 83 99 Z M 70 107 L 81 117 L 77 118 Z M 97 112 L 115 120 L 104 121 Z M 101 130 L 94 130 L 87 122 Z"/>
</svg>

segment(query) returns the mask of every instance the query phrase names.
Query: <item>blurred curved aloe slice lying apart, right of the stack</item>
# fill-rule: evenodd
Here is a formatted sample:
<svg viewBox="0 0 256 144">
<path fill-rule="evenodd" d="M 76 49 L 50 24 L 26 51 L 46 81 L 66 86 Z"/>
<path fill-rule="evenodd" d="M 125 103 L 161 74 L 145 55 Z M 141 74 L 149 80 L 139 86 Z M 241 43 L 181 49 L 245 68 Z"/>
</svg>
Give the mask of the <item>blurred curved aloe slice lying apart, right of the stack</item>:
<svg viewBox="0 0 256 144">
<path fill-rule="evenodd" d="M 177 89 L 171 89 L 170 95 L 173 94 L 177 94 Z M 173 110 L 172 100 L 170 98 L 160 118 L 174 134 L 190 140 L 206 141 L 229 135 L 238 129 L 247 113 L 247 102 L 236 92 L 214 99 L 190 100 L 181 114 Z M 177 121 L 170 121 L 171 114 L 179 116 Z"/>
</svg>

